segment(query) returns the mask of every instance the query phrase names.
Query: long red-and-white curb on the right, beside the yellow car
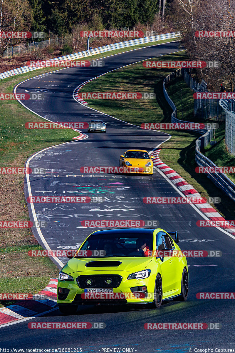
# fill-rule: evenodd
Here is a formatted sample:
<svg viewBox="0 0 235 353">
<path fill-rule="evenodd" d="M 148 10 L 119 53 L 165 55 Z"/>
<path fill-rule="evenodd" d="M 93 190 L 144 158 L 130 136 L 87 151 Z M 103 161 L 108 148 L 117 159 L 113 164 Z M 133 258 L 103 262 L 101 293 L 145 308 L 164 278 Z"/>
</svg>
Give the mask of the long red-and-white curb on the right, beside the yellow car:
<svg viewBox="0 0 235 353">
<path fill-rule="evenodd" d="M 194 189 L 194 187 L 187 183 L 174 169 L 170 168 L 167 164 L 163 163 L 159 158 L 161 149 L 154 150 L 151 153 L 153 158 L 153 164 L 159 168 L 166 177 L 179 189 L 185 196 L 201 197 L 201 195 Z M 211 221 L 225 221 L 224 217 L 221 216 L 209 203 L 196 203 L 194 204 L 206 217 Z M 235 228 L 228 228 L 221 226 L 227 232 L 235 235 Z"/>
</svg>

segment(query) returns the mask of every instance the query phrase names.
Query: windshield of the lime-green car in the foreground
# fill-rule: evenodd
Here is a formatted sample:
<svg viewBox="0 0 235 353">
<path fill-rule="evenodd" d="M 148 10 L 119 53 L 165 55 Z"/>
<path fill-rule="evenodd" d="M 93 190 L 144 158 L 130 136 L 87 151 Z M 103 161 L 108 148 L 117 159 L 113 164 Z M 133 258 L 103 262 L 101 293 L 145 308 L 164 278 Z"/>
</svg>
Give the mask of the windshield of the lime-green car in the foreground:
<svg viewBox="0 0 235 353">
<path fill-rule="evenodd" d="M 141 246 L 153 250 L 153 234 L 97 234 L 90 235 L 80 250 L 105 250 L 105 257 L 144 257 Z"/>
</svg>

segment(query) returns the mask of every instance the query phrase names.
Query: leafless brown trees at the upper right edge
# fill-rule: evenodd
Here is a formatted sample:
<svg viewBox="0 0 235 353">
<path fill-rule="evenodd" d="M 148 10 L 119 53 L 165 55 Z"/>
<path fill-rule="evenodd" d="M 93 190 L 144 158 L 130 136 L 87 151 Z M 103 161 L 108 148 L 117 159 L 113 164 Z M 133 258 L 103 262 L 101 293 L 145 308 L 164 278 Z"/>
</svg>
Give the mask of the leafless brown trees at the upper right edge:
<svg viewBox="0 0 235 353">
<path fill-rule="evenodd" d="M 175 0 L 175 29 L 182 34 L 182 41 L 191 60 L 219 61 L 219 68 L 197 70 L 198 77 L 208 83 L 208 88 L 218 91 L 223 82 L 230 90 L 235 87 L 235 38 L 197 38 L 195 32 L 229 31 L 235 28 L 235 1 L 214 0 Z"/>
</svg>

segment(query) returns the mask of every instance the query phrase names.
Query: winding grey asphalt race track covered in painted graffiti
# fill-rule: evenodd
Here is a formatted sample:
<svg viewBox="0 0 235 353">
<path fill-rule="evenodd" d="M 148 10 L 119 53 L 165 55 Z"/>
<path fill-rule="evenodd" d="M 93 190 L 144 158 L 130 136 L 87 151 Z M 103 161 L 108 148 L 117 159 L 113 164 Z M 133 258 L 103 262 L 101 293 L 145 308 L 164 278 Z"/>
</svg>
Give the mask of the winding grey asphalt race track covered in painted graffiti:
<svg viewBox="0 0 235 353">
<path fill-rule="evenodd" d="M 58 145 L 35 154 L 29 167 L 45 168 L 45 174 L 30 175 L 33 196 L 102 196 L 103 202 L 87 204 L 34 204 L 41 232 L 50 249 L 76 249 L 97 228 L 81 226 L 82 220 L 157 220 L 159 227 L 177 230 L 182 250 L 219 250 L 222 257 L 188 258 L 190 294 L 186 302 L 168 301 L 160 309 L 147 306 L 83 306 L 76 315 L 59 310 L 0 330 L 4 348 L 82 348 L 82 352 L 112 352 L 105 348 L 128 348 L 129 352 L 194 352 L 194 349 L 234 348 L 234 301 L 199 300 L 198 292 L 234 292 L 235 239 L 211 227 L 198 228 L 203 216 L 191 205 L 144 204 L 146 196 L 180 196 L 154 170 L 153 176 L 82 174 L 84 166 L 118 166 L 119 156 L 128 148 L 148 151 L 168 135 L 145 131 L 77 103 L 74 89 L 83 82 L 118 67 L 178 51 L 178 43 L 166 43 L 113 55 L 105 66 L 66 68 L 21 83 L 17 93 L 43 90 L 43 101 L 24 101 L 42 117 L 55 122 L 103 119 L 107 133 L 88 133 L 85 140 Z M 46 91 L 46 92 L 45 92 Z M 49 116 L 49 117 L 48 117 Z M 82 131 L 86 132 L 86 131 Z M 25 196 L 28 187 L 25 184 Z M 29 204 L 30 217 L 32 211 Z M 38 233 L 35 237 L 42 244 Z M 63 263 L 66 257 L 60 257 Z M 105 329 L 33 330 L 29 322 L 104 322 Z M 220 323 L 218 330 L 146 330 L 144 323 Z M 115 351 L 113 351 L 115 352 Z M 197 350 L 195 351 L 197 352 Z M 199 351 L 198 351 L 199 352 Z"/>
</svg>

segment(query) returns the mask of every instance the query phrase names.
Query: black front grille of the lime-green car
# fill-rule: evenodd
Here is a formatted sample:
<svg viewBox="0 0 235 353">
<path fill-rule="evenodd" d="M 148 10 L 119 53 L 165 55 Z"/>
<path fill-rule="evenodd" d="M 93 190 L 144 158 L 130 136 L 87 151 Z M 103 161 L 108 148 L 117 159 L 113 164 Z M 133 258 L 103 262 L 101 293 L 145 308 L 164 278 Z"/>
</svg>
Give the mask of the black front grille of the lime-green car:
<svg viewBox="0 0 235 353">
<path fill-rule="evenodd" d="M 86 280 L 92 280 L 92 283 L 86 284 Z M 106 284 L 106 280 L 112 280 L 111 283 Z M 76 281 L 80 288 L 117 288 L 119 287 L 122 276 L 119 275 L 84 275 L 78 276 Z"/>
</svg>

